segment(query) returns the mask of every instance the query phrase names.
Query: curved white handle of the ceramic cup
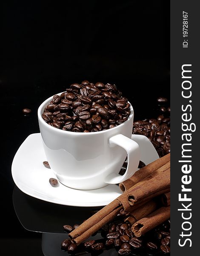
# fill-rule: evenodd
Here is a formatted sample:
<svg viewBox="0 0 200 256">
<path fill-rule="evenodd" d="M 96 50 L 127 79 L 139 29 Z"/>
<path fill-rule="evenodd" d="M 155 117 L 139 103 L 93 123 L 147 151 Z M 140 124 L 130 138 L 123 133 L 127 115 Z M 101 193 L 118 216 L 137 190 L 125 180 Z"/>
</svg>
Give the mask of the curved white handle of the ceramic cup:
<svg viewBox="0 0 200 256">
<path fill-rule="evenodd" d="M 123 134 L 114 135 L 109 139 L 110 146 L 118 145 L 124 148 L 128 156 L 128 166 L 124 175 L 116 175 L 111 173 L 105 178 L 105 182 L 109 184 L 117 184 L 129 179 L 134 172 L 137 171 L 137 166 L 140 161 L 140 148 L 139 145 L 134 141 L 124 136 Z"/>
</svg>

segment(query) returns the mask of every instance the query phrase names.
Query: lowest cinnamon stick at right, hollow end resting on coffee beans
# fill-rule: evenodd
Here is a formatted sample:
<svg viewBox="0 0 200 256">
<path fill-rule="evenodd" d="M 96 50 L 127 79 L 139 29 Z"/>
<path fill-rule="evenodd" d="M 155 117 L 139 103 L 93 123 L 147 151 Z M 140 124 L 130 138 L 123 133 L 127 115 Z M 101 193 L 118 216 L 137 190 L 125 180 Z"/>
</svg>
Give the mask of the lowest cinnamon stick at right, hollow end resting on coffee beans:
<svg viewBox="0 0 200 256">
<path fill-rule="evenodd" d="M 157 209 L 156 211 L 149 214 L 147 217 L 142 218 L 141 220 L 133 224 L 131 227 L 131 231 L 134 233 L 135 236 L 140 237 L 169 218 L 170 206 L 161 207 L 160 209 Z"/>
</svg>

